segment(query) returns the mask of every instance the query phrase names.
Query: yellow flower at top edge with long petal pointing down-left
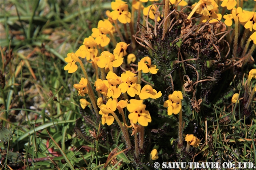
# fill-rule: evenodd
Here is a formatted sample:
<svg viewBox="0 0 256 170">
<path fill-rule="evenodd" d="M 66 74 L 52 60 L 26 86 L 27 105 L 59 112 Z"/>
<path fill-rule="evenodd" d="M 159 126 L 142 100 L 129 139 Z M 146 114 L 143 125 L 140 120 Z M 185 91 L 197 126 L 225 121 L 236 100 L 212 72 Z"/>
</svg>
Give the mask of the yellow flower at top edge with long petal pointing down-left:
<svg viewBox="0 0 256 170">
<path fill-rule="evenodd" d="M 200 15 L 211 16 L 209 11 L 214 7 L 219 7 L 214 0 L 199 0 L 199 2 L 192 5 L 192 8 L 194 9 L 191 11 L 187 19 L 190 19 L 195 12 Z"/>
</svg>

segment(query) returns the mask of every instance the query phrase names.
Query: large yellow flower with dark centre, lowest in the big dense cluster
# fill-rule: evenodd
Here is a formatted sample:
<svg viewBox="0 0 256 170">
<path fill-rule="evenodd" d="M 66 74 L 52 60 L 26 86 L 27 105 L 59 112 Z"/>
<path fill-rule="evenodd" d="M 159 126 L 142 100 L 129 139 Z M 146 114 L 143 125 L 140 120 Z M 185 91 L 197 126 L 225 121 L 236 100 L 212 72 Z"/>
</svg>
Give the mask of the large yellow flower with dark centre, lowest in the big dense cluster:
<svg viewBox="0 0 256 170">
<path fill-rule="evenodd" d="M 130 103 L 127 105 L 127 110 L 130 112 L 128 118 L 134 124 L 138 122 L 141 126 L 148 126 L 148 123 L 151 122 L 151 116 L 149 111 L 145 110 L 146 105 L 143 105 L 142 103 L 143 100 L 130 100 Z"/>
</svg>

